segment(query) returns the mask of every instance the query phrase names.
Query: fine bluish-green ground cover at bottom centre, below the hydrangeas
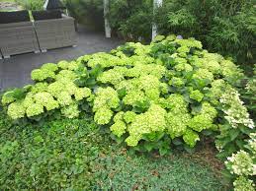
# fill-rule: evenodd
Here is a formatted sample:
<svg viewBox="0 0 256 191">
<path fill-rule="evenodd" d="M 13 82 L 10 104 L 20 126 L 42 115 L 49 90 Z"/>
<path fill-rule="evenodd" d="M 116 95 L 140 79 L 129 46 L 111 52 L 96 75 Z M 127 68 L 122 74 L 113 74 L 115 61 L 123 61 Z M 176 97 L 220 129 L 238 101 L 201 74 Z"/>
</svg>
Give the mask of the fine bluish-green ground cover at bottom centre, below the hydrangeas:
<svg viewBox="0 0 256 191">
<path fill-rule="evenodd" d="M 102 190 L 227 190 L 210 166 L 180 153 L 159 158 L 123 150 L 96 162 Z"/>
</svg>

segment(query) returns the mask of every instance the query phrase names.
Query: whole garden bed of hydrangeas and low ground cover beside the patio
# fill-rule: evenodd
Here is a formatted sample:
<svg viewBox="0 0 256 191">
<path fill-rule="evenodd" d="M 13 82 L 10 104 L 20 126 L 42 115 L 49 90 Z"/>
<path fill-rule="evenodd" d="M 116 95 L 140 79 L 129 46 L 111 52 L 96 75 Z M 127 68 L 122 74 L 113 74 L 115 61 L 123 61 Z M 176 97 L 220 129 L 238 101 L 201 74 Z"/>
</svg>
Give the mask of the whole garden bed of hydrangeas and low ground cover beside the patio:
<svg viewBox="0 0 256 191">
<path fill-rule="evenodd" d="M 195 38 L 159 35 L 31 76 L 2 96 L 4 189 L 254 191 L 254 81 L 244 105 L 242 70 Z"/>
</svg>

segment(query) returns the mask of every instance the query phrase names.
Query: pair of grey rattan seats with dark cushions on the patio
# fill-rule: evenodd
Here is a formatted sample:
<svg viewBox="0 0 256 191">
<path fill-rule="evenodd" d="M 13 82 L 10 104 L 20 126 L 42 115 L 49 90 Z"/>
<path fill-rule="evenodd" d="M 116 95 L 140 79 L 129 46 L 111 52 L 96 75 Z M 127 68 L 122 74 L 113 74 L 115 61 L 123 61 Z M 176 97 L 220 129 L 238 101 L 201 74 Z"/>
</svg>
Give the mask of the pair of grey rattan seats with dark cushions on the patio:
<svg viewBox="0 0 256 191">
<path fill-rule="evenodd" d="M 59 10 L 0 12 L 0 59 L 75 46 L 74 19 Z"/>
</svg>

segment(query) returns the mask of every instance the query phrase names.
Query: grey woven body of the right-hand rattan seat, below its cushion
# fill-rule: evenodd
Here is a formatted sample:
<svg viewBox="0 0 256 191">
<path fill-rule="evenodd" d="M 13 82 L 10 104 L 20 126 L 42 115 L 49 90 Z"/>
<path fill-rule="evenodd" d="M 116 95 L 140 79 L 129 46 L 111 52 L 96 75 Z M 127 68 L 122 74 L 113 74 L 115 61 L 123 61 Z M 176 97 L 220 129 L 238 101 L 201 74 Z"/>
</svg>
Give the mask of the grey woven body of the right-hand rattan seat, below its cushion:
<svg viewBox="0 0 256 191">
<path fill-rule="evenodd" d="M 71 17 L 61 15 L 58 19 L 35 19 L 34 27 L 43 52 L 47 49 L 74 46 L 76 43 L 74 19 Z"/>
</svg>

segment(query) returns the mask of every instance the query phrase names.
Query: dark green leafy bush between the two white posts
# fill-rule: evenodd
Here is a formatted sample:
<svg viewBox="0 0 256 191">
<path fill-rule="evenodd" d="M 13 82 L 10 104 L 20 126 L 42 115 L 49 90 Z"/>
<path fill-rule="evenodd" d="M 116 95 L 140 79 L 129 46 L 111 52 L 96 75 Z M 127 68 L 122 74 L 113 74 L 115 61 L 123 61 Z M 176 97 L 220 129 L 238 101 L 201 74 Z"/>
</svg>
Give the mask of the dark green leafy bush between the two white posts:
<svg viewBox="0 0 256 191">
<path fill-rule="evenodd" d="M 149 41 L 152 16 L 151 0 L 115 0 L 110 3 L 108 17 L 113 31 L 126 39 Z"/>
</svg>

